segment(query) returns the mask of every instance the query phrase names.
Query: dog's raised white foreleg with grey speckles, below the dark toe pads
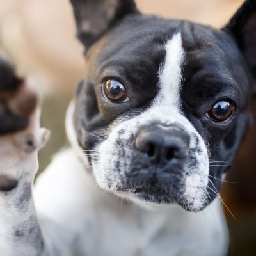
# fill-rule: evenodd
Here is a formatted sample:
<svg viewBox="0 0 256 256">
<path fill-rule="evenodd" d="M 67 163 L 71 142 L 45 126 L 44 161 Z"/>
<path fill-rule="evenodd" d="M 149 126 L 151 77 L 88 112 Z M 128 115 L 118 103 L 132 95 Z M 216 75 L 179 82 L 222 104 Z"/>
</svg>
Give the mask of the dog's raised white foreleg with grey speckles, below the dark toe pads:
<svg viewBox="0 0 256 256">
<path fill-rule="evenodd" d="M 37 119 L 38 113 L 34 113 L 25 131 L 0 138 L 0 251 L 3 255 L 43 255 L 44 252 L 31 196 L 38 167 L 38 146 L 47 134 L 36 131 Z"/>
</svg>

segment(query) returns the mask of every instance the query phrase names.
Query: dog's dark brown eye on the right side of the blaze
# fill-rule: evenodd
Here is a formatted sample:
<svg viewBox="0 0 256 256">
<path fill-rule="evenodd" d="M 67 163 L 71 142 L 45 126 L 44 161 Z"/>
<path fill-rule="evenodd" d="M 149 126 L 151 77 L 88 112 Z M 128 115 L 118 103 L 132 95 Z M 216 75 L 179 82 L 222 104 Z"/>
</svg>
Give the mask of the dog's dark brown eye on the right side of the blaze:
<svg viewBox="0 0 256 256">
<path fill-rule="evenodd" d="M 207 113 L 207 116 L 217 122 L 225 122 L 232 117 L 235 111 L 235 106 L 232 102 L 221 100 L 212 106 L 212 109 Z"/>
</svg>

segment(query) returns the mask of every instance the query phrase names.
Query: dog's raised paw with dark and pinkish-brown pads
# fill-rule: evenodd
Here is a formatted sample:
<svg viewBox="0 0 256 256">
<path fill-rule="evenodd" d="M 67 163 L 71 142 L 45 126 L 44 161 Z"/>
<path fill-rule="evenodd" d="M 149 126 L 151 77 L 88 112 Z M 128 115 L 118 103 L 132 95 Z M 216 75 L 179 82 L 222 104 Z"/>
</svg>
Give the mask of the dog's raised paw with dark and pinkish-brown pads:
<svg viewBox="0 0 256 256">
<path fill-rule="evenodd" d="M 50 134 L 40 128 L 37 103 L 36 92 L 0 59 L 0 192 L 33 183 L 38 150 Z"/>
</svg>

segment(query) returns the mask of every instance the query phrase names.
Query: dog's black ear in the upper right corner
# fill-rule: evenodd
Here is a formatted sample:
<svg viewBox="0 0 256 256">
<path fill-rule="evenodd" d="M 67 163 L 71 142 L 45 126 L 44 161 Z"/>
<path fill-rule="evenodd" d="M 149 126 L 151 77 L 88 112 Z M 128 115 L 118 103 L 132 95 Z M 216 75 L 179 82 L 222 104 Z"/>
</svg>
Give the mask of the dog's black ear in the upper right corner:
<svg viewBox="0 0 256 256">
<path fill-rule="evenodd" d="M 256 92 L 256 1 L 246 0 L 223 30 L 231 33 L 252 70 Z"/>
</svg>

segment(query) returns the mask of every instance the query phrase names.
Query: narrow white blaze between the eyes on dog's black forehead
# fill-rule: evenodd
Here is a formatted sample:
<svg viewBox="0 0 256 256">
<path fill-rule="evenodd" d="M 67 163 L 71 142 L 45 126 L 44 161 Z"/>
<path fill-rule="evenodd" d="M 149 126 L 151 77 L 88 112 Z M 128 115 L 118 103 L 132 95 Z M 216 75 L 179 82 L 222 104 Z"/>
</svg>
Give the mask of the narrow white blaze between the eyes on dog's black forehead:
<svg viewBox="0 0 256 256">
<path fill-rule="evenodd" d="M 182 81 L 181 65 L 184 58 L 180 32 L 166 42 L 165 49 L 166 58 L 159 68 L 160 92 L 154 100 L 154 105 L 175 106 L 179 110 L 180 84 Z"/>
</svg>

